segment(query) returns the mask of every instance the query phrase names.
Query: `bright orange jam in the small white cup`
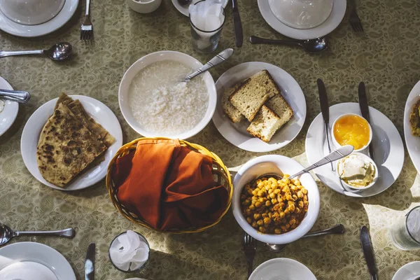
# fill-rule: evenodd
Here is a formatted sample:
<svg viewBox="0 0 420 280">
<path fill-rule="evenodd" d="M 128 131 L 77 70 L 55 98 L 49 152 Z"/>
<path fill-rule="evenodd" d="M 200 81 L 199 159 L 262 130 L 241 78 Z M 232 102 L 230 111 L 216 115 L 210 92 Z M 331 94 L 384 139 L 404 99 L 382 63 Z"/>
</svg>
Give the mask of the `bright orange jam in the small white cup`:
<svg viewBox="0 0 420 280">
<path fill-rule="evenodd" d="M 339 118 L 333 127 L 334 137 L 341 146 L 352 145 L 355 150 L 369 143 L 370 127 L 364 118 L 347 115 Z"/>
</svg>

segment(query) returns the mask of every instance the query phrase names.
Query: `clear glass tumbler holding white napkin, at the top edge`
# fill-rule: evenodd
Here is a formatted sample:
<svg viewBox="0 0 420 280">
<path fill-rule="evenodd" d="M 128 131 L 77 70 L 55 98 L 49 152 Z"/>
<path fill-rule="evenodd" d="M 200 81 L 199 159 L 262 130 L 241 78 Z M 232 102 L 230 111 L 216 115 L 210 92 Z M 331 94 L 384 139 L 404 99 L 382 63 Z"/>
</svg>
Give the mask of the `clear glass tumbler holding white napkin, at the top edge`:
<svg viewBox="0 0 420 280">
<path fill-rule="evenodd" d="M 201 3 L 205 0 L 199 1 L 197 3 Z M 195 3 L 194 5 L 197 5 Z M 196 23 L 197 24 L 197 23 Z M 222 27 L 225 25 L 225 10 L 223 9 L 223 20 L 216 29 L 213 30 L 202 30 L 197 28 L 194 25 L 193 20 L 191 20 L 190 16 L 190 25 L 191 25 L 191 36 L 193 37 L 193 47 L 195 50 L 204 53 L 214 52 L 216 50 L 219 39 L 221 38 L 222 34 Z"/>
</svg>

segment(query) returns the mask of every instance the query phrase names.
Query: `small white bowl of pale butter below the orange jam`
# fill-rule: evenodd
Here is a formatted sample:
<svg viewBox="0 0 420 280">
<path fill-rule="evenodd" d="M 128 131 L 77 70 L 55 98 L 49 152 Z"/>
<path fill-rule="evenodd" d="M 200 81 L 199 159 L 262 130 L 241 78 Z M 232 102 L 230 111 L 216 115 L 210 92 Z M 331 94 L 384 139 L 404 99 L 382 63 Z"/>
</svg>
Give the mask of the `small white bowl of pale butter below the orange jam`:
<svg viewBox="0 0 420 280">
<path fill-rule="evenodd" d="M 338 160 L 337 174 L 344 187 L 362 191 L 371 188 L 378 179 L 374 161 L 363 153 L 351 153 Z"/>
</svg>

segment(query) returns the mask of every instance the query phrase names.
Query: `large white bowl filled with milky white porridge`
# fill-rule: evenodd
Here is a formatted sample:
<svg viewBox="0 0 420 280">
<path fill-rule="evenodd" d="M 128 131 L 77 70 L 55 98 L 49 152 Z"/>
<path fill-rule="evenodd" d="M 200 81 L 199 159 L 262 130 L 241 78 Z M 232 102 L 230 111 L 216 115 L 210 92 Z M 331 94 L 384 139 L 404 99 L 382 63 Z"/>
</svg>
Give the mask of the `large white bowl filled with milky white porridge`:
<svg viewBox="0 0 420 280">
<path fill-rule="evenodd" d="M 127 123 L 144 137 L 188 139 L 206 127 L 216 110 L 209 72 L 183 82 L 203 64 L 182 52 L 153 52 L 134 62 L 120 83 L 118 99 Z"/>
</svg>

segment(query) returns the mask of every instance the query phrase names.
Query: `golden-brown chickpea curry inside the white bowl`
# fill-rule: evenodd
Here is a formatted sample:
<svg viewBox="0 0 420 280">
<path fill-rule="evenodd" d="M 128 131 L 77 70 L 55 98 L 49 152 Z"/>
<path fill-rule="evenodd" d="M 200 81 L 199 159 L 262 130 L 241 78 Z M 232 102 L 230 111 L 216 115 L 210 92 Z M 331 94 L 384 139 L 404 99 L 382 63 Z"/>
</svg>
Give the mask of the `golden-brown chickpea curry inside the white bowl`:
<svg viewBox="0 0 420 280">
<path fill-rule="evenodd" d="M 297 228 L 308 211 L 308 191 L 298 179 L 261 178 L 247 183 L 241 210 L 258 232 L 280 235 Z"/>
</svg>

